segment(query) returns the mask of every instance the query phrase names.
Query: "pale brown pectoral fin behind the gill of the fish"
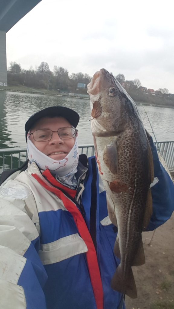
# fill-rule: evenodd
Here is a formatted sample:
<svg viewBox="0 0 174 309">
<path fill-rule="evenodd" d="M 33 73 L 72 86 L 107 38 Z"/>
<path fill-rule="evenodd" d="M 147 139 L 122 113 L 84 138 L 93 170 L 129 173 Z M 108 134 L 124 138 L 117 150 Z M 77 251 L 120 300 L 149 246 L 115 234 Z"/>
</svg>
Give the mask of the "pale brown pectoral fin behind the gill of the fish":
<svg viewBox="0 0 174 309">
<path fill-rule="evenodd" d="M 103 161 L 111 173 L 116 174 L 118 171 L 118 154 L 116 142 L 111 142 L 105 147 L 103 152 Z"/>
</svg>

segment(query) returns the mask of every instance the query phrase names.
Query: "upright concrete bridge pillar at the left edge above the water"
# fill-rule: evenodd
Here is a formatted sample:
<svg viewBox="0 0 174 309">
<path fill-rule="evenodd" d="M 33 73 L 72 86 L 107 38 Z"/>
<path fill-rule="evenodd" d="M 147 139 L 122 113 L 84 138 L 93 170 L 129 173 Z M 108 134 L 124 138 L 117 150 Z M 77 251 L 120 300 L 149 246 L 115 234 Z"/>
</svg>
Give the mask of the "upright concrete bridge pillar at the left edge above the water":
<svg viewBox="0 0 174 309">
<path fill-rule="evenodd" d="M 0 31 L 0 86 L 7 86 L 6 32 Z"/>
</svg>

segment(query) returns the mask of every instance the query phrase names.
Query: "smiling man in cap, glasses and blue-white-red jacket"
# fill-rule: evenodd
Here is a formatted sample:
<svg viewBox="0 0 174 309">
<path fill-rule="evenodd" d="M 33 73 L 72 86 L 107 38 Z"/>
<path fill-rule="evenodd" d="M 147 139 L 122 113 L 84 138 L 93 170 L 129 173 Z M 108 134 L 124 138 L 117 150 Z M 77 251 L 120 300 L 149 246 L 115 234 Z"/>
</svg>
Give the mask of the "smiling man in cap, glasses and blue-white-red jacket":
<svg viewBox="0 0 174 309">
<path fill-rule="evenodd" d="M 78 155 L 78 121 L 75 111 L 56 106 L 25 124 L 28 167 L 0 189 L 1 309 L 124 308 L 123 295 L 110 286 L 119 264 L 117 229 L 95 158 Z M 149 230 L 170 218 L 174 196 L 151 147 L 158 180 Z"/>
</svg>

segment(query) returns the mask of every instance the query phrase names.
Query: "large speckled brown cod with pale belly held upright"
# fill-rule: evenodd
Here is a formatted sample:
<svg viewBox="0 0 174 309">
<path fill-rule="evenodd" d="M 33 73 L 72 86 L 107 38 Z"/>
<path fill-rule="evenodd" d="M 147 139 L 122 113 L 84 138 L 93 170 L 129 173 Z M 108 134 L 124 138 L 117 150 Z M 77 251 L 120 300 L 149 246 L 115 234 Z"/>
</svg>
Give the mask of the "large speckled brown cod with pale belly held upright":
<svg viewBox="0 0 174 309">
<path fill-rule="evenodd" d="M 91 129 L 111 222 L 118 227 L 114 253 L 120 265 L 111 287 L 137 298 L 132 266 L 145 263 L 141 232 L 152 214 L 153 157 L 136 104 L 107 70 L 88 84 Z"/>
</svg>

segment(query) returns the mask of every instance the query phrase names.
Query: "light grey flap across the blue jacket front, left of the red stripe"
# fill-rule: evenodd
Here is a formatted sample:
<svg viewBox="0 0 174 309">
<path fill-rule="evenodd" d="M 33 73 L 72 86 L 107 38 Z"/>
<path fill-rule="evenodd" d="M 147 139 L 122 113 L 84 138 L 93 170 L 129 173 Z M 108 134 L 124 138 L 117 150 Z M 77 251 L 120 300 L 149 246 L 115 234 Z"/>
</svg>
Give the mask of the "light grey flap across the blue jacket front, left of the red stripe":
<svg viewBox="0 0 174 309">
<path fill-rule="evenodd" d="M 52 243 L 41 244 L 39 256 L 43 265 L 49 265 L 87 251 L 84 240 L 76 233 Z"/>
</svg>

